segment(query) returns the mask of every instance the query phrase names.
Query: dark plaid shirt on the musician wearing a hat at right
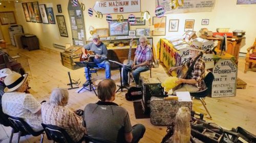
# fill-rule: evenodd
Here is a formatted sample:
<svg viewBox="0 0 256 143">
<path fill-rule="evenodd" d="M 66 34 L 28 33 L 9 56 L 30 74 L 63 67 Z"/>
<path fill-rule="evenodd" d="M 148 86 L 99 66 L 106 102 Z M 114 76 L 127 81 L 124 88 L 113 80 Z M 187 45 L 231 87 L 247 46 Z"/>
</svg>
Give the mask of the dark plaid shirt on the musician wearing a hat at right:
<svg viewBox="0 0 256 143">
<path fill-rule="evenodd" d="M 191 65 L 194 62 L 194 60 L 190 60 L 189 64 Z M 195 79 L 197 83 L 193 84 L 195 85 L 199 91 L 202 91 L 206 89 L 206 85 L 204 83 L 204 69 L 205 69 L 205 64 L 203 62 L 202 58 L 199 58 L 195 65 L 194 68 L 192 69 L 191 73 L 187 75 L 187 79 Z"/>
</svg>

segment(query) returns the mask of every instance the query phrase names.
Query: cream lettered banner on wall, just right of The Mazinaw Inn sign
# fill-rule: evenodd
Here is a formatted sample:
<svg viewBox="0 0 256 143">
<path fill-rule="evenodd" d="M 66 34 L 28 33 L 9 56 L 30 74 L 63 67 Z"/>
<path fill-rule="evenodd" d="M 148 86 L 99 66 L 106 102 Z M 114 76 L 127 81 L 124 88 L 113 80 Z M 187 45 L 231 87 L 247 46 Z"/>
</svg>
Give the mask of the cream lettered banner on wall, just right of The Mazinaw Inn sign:
<svg viewBox="0 0 256 143">
<path fill-rule="evenodd" d="M 163 6 L 165 14 L 210 12 L 216 0 L 155 0 L 156 6 Z"/>
</svg>

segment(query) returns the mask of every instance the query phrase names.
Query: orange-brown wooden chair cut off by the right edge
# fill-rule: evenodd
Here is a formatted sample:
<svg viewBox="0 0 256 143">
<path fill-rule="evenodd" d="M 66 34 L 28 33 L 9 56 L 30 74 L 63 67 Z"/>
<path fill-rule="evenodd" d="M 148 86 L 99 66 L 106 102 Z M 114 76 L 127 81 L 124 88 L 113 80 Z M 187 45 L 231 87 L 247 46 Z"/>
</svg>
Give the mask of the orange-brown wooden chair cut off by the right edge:
<svg viewBox="0 0 256 143">
<path fill-rule="evenodd" d="M 252 63 L 256 63 L 256 38 L 253 45 L 247 49 L 244 73 L 247 72 L 248 67 L 251 68 Z"/>
</svg>

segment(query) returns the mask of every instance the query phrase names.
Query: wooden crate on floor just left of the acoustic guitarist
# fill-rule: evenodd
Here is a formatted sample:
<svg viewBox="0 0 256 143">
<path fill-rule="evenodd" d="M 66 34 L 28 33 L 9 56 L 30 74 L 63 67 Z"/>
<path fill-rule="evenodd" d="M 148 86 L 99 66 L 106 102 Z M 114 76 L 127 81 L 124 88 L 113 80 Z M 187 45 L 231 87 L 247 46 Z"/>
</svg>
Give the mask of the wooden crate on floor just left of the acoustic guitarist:
<svg viewBox="0 0 256 143">
<path fill-rule="evenodd" d="M 60 52 L 60 57 L 61 57 L 61 63 L 63 66 L 70 68 L 72 70 L 82 68 L 74 63 L 74 62 L 79 62 L 79 59 L 80 59 L 79 54 L 72 55 L 68 52 Z"/>
</svg>

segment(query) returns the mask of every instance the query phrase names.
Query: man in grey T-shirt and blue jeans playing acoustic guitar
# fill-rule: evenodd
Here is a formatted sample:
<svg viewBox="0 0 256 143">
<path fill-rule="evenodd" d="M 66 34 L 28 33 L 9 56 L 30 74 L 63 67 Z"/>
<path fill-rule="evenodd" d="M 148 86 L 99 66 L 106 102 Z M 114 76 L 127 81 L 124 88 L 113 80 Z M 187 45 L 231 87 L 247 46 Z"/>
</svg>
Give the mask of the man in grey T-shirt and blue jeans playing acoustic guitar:
<svg viewBox="0 0 256 143">
<path fill-rule="evenodd" d="M 86 49 L 91 50 L 95 53 L 95 58 L 93 59 L 93 62 L 100 68 L 105 69 L 105 78 L 110 79 L 111 73 L 110 73 L 110 63 L 109 61 L 105 60 L 104 58 L 101 58 L 102 55 L 108 54 L 108 49 L 106 49 L 106 45 L 102 43 L 99 40 L 99 35 L 94 34 L 92 36 L 93 42 L 90 42 L 89 44 L 85 45 L 82 48 L 82 54 L 84 55 L 84 58 L 87 58 Z M 85 67 L 84 71 L 86 72 L 86 79 L 87 81 L 83 83 L 83 87 L 86 87 L 89 85 L 89 75 L 88 75 L 88 69 Z"/>
</svg>

